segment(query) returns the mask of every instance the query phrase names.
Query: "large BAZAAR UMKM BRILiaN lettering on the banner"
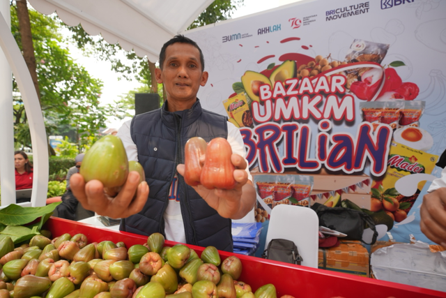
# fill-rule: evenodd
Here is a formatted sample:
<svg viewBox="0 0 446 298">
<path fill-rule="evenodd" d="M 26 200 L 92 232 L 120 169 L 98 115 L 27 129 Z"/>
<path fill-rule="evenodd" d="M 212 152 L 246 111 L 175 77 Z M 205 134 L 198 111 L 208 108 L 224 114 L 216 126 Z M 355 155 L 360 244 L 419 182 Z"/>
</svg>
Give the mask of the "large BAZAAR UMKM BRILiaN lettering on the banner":
<svg viewBox="0 0 446 298">
<path fill-rule="evenodd" d="M 362 122 L 355 137 L 345 132 L 329 133 L 332 120 L 355 120 L 355 98 L 346 94 L 345 83 L 344 75 L 321 75 L 316 80 L 277 81 L 273 89 L 261 85 L 261 102 L 252 102 L 254 128 L 240 128 L 249 166 L 258 162 L 261 172 L 284 172 L 289 167 L 316 172 L 324 165 L 328 170 L 351 174 L 364 170 L 368 160 L 371 174 L 383 175 L 392 139 L 390 126 Z M 318 121 L 314 158 L 309 156 L 312 128 L 295 122 L 310 118 Z M 281 141 L 283 156 L 277 149 Z"/>
</svg>

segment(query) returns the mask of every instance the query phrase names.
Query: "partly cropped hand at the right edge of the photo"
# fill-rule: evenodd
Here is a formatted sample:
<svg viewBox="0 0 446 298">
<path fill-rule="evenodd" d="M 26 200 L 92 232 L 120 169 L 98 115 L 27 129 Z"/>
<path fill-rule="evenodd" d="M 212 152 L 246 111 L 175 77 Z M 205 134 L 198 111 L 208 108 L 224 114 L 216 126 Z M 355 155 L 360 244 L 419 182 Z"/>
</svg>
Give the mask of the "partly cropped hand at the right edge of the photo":
<svg viewBox="0 0 446 298">
<path fill-rule="evenodd" d="M 429 239 L 446 247 L 446 188 L 438 188 L 423 197 L 420 228 Z"/>
</svg>

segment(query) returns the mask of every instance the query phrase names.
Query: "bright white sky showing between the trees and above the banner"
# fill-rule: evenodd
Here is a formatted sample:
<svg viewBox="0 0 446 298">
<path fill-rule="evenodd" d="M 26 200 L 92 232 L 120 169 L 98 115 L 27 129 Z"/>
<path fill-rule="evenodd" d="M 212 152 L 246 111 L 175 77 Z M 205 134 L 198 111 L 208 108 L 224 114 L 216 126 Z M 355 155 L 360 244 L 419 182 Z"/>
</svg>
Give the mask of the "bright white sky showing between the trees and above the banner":
<svg viewBox="0 0 446 298">
<path fill-rule="evenodd" d="M 233 19 L 259 13 L 264 10 L 277 8 L 289 3 L 294 3 L 301 0 L 245 0 L 245 5 L 238 8 L 232 15 Z M 106 61 L 98 61 L 94 57 L 85 57 L 76 47 L 70 48 L 71 56 L 77 64 L 84 66 L 90 75 L 96 79 L 102 80 L 104 86 L 102 87 L 102 95 L 100 97 L 101 103 L 113 103 L 119 99 L 119 96 L 127 94 L 128 91 L 141 87 L 141 84 L 136 80 L 128 81 L 125 79 L 119 80 L 119 75 L 111 70 L 111 66 Z M 107 128 L 119 128 L 123 121 L 112 117 L 107 121 Z"/>
</svg>

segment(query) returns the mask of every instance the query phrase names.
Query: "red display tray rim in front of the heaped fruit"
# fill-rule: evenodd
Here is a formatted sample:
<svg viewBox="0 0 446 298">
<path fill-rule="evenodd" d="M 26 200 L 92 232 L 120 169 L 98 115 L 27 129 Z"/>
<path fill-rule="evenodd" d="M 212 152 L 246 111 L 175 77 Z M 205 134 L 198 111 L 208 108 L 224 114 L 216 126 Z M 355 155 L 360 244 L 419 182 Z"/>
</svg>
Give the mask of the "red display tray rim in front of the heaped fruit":
<svg viewBox="0 0 446 298">
<path fill-rule="evenodd" d="M 52 237 L 69 233 L 71 235 L 85 234 L 89 243 L 95 241 L 123 241 L 129 248 L 134 244 L 144 244 L 147 236 L 121 232 L 109 228 L 99 228 L 86 223 L 68 221 L 62 218 L 49 218 L 45 229 L 52 232 Z M 165 241 L 166 246 L 174 246 L 176 242 Z M 187 245 L 201 255 L 203 247 Z M 230 255 L 240 258 L 243 271 L 239 280 L 251 285 L 256 290 L 262 285 L 272 283 L 277 289 L 277 297 L 293 295 L 295 298 L 304 297 L 344 297 L 344 298 L 433 298 L 446 297 L 445 292 L 417 288 L 412 285 L 378 281 L 373 278 L 354 276 L 322 269 L 314 269 L 299 265 L 286 264 L 261 258 L 219 251 L 224 260 Z"/>
</svg>

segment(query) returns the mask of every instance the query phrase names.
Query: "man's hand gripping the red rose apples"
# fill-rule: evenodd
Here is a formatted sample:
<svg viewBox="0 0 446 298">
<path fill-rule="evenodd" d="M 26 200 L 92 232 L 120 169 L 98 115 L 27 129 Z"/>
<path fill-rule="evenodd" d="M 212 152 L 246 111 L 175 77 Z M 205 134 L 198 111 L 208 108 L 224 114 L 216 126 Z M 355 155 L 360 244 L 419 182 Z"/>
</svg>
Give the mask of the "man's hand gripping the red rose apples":
<svg viewBox="0 0 446 298">
<path fill-rule="evenodd" d="M 205 156 L 201 156 L 200 162 L 204 162 Z M 245 158 L 238 154 L 231 155 L 231 162 L 236 167 L 233 177 L 236 186 L 232 189 L 212 189 L 209 190 L 201 184 L 192 186 L 195 191 L 205 200 L 210 207 L 217 210 L 218 214 L 224 218 L 243 218 L 253 207 L 256 201 L 256 192 L 252 182 L 248 180 L 246 172 L 247 163 Z M 178 173 L 184 177 L 185 165 L 176 167 Z"/>
</svg>

